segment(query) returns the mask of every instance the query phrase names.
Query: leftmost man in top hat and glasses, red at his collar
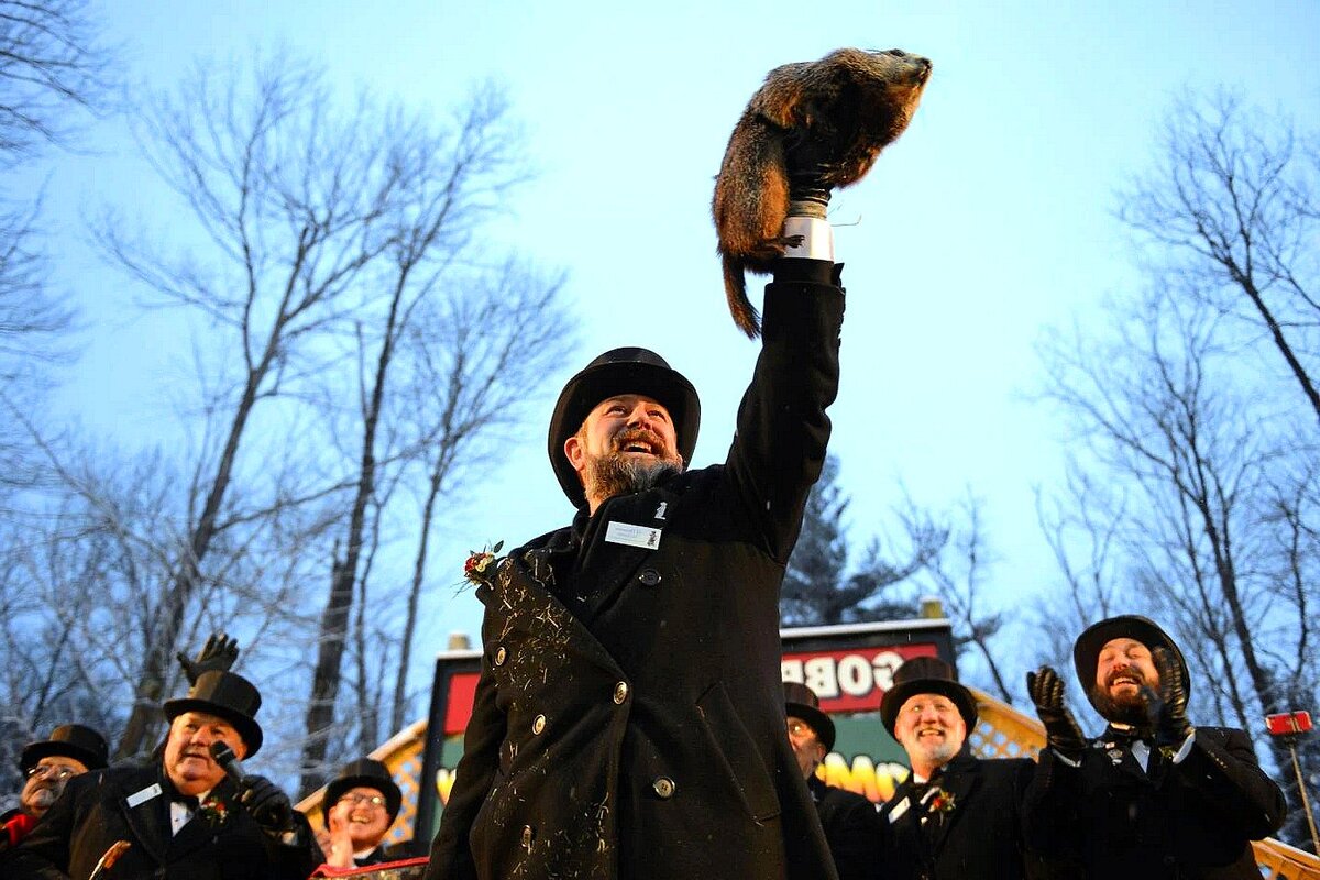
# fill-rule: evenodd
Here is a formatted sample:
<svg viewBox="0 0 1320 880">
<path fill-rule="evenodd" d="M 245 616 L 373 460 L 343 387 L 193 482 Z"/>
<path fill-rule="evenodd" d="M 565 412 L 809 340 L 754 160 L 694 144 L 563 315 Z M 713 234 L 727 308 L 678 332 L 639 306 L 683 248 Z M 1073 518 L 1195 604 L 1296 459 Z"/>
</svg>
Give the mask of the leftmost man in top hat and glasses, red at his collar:
<svg viewBox="0 0 1320 880">
<path fill-rule="evenodd" d="M 18 756 L 24 782 L 17 809 L 0 815 L 0 850 L 17 846 L 75 776 L 106 767 L 106 738 L 82 724 L 62 724 L 49 739 L 28 743 Z"/>
</svg>

